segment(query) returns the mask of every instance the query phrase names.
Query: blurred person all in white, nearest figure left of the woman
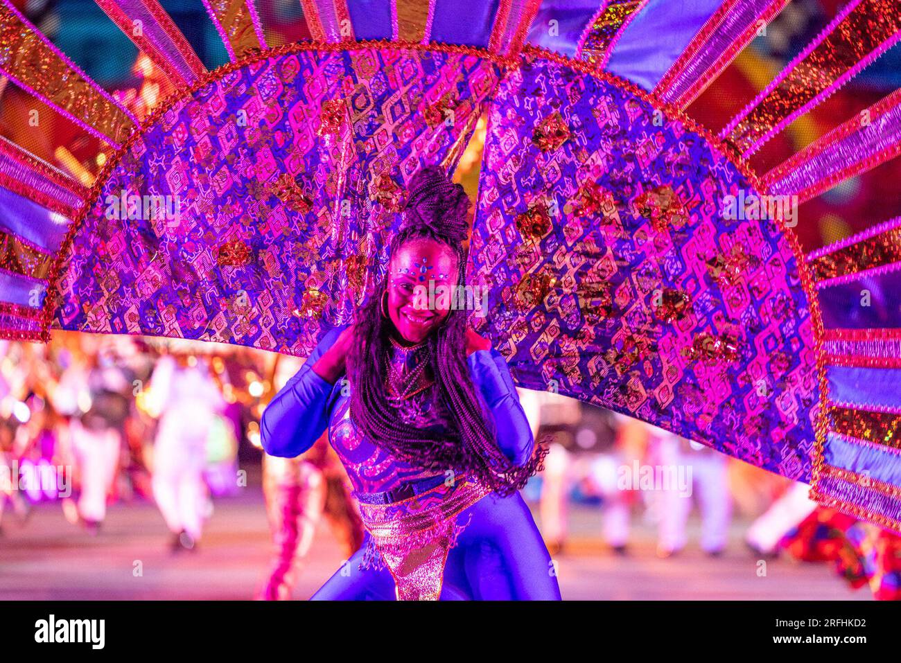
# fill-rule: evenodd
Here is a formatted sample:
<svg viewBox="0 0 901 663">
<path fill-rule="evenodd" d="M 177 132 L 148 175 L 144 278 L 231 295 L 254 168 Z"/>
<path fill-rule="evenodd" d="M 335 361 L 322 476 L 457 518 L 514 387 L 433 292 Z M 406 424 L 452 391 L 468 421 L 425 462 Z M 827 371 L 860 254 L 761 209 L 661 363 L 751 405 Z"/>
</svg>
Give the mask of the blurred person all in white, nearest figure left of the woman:
<svg viewBox="0 0 901 663">
<path fill-rule="evenodd" d="M 165 355 L 150 377 L 159 404 L 153 447 L 153 497 L 172 532 L 173 552 L 196 549 L 208 512 L 207 440 L 225 401 L 206 359 Z"/>
</svg>

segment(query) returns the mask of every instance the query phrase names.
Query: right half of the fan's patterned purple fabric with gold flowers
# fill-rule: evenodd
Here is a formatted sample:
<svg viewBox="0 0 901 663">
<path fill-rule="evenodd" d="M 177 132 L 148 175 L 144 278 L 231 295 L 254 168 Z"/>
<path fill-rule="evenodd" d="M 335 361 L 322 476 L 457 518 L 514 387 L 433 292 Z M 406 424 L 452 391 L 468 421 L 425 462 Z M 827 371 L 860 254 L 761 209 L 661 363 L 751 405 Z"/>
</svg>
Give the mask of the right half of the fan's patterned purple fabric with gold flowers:
<svg viewBox="0 0 901 663">
<path fill-rule="evenodd" d="M 773 224 L 724 219 L 717 201 L 750 185 L 703 138 L 653 117 L 650 102 L 545 59 L 501 80 L 469 249 L 468 284 L 488 300 L 474 325 L 517 386 L 553 379 L 560 394 L 809 480 L 814 330 L 791 247 Z M 644 207 L 654 190 L 671 192 L 659 216 Z M 551 199 L 566 204 L 551 211 Z M 711 261 L 731 246 L 755 259 L 716 277 Z M 661 287 L 688 302 L 678 319 L 653 304 Z"/>
</svg>

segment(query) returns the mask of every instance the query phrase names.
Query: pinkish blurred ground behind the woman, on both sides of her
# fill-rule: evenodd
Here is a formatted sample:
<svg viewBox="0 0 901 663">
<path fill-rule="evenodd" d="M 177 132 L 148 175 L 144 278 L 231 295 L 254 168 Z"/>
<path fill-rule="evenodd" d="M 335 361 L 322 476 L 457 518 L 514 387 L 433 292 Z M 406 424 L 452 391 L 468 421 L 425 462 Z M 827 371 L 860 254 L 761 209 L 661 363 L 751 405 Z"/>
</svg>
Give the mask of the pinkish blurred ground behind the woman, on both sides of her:
<svg viewBox="0 0 901 663">
<path fill-rule="evenodd" d="M 867 587 L 851 590 L 825 564 L 769 560 L 767 576 L 758 577 L 757 559 L 742 544 L 747 522 L 733 522 L 729 548 L 719 559 L 698 549 L 694 520 L 688 548 L 658 559 L 653 528 L 635 520 L 632 552 L 617 557 L 598 535 L 599 509 L 572 508 L 569 548 L 557 558 L 565 599 L 871 599 Z M 247 599 L 270 561 L 262 495 L 254 487 L 217 500 L 198 549 L 175 557 L 168 553 L 162 517 L 149 502 L 112 505 L 96 537 L 66 522 L 58 504 L 39 505 L 21 525 L 9 511 L 4 521 L 0 600 Z M 341 559 L 323 524 L 295 598 L 312 595 Z M 142 575 L 136 577 L 138 562 Z"/>
</svg>

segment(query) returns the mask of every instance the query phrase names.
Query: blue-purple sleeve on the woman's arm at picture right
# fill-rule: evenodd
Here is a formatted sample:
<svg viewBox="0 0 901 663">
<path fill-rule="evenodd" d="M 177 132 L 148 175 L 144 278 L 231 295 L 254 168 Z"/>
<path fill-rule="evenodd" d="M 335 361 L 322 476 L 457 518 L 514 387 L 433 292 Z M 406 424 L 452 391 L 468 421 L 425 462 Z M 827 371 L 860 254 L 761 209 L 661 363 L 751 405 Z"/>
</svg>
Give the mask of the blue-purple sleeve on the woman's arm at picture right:
<svg viewBox="0 0 901 663">
<path fill-rule="evenodd" d="M 504 356 L 497 350 L 476 350 L 467 361 L 473 383 L 494 417 L 497 446 L 516 465 L 524 465 L 532 458 L 535 441 Z"/>
</svg>

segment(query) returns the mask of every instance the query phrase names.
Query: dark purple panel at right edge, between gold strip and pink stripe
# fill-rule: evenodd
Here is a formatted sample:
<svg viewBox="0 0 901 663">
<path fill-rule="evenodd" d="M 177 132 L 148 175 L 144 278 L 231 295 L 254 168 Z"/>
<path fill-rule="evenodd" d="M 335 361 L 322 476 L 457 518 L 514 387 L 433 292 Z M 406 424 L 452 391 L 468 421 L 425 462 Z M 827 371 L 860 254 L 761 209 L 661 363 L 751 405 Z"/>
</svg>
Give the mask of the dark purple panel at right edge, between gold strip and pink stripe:
<svg viewBox="0 0 901 663">
<path fill-rule="evenodd" d="M 862 304 L 869 292 L 869 306 Z M 901 327 L 901 270 L 863 276 L 838 286 L 820 288 L 817 298 L 827 329 Z"/>
</svg>

